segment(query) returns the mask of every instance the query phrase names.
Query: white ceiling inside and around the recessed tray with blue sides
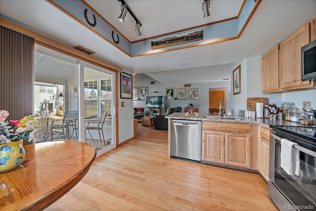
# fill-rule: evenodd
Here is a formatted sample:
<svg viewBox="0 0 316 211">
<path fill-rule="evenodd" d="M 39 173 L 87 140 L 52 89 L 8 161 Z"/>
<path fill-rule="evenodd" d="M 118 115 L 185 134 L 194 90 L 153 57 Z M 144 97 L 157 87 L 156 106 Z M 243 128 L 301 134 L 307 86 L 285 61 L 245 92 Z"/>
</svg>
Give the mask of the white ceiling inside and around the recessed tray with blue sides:
<svg viewBox="0 0 316 211">
<path fill-rule="evenodd" d="M 211 16 L 203 18 L 203 0 L 125 1 L 143 25 L 141 37 L 136 37 L 135 21 L 129 14 L 124 23 L 118 20 L 118 0 L 86 0 L 130 41 L 235 17 L 242 4 L 242 0 L 211 0 Z M 316 0 L 262 0 L 237 40 L 129 57 L 45 0 L 0 0 L 1 17 L 70 46 L 82 45 L 123 71 L 145 73 L 166 85 L 230 78 L 235 63 L 262 56 L 312 19 L 315 8 Z"/>
</svg>

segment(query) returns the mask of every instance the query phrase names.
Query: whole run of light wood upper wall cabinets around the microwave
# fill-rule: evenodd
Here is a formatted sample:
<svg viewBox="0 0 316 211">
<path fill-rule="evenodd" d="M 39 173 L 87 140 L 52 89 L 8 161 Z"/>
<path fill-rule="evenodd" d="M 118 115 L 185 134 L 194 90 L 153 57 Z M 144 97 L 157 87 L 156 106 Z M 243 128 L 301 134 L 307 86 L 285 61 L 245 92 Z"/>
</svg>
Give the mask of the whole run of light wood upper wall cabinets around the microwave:
<svg viewBox="0 0 316 211">
<path fill-rule="evenodd" d="M 316 17 L 262 56 L 263 93 L 316 87 L 316 80 L 301 80 L 301 48 L 310 39 L 316 39 Z"/>
</svg>

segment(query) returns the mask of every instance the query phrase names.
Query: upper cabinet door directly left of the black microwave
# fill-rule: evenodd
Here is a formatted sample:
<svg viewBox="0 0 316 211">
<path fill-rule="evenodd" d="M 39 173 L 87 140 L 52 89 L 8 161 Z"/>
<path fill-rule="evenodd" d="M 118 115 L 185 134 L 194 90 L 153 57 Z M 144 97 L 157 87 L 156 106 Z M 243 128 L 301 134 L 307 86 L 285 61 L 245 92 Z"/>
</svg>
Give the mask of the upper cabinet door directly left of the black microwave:
<svg viewBox="0 0 316 211">
<path fill-rule="evenodd" d="M 291 90 L 306 87 L 311 81 L 301 81 L 301 48 L 310 41 L 310 23 L 280 43 L 280 88 Z"/>
</svg>

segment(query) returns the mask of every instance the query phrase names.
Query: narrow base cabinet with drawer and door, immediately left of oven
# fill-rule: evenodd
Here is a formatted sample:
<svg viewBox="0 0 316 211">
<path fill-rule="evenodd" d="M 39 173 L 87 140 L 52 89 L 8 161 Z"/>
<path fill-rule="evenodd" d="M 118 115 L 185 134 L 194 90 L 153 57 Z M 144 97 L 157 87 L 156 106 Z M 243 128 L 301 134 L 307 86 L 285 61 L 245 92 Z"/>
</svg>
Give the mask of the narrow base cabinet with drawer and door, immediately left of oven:
<svg viewBox="0 0 316 211">
<path fill-rule="evenodd" d="M 260 126 L 258 140 L 258 171 L 267 181 L 269 180 L 269 152 L 270 152 L 270 130 Z"/>
</svg>

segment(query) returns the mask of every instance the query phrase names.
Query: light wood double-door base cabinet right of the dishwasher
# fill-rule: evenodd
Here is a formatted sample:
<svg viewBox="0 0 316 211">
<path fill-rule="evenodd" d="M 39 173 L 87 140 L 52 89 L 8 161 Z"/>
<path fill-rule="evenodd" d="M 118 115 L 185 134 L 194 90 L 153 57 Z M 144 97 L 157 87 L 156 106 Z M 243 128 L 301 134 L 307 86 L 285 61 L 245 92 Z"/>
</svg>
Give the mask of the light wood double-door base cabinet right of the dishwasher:
<svg viewBox="0 0 316 211">
<path fill-rule="evenodd" d="M 202 123 L 202 161 L 251 168 L 251 124 Z"/>
</svg>

